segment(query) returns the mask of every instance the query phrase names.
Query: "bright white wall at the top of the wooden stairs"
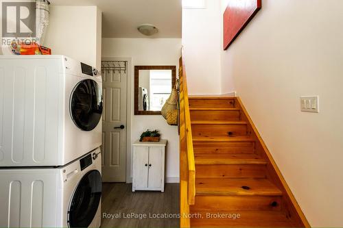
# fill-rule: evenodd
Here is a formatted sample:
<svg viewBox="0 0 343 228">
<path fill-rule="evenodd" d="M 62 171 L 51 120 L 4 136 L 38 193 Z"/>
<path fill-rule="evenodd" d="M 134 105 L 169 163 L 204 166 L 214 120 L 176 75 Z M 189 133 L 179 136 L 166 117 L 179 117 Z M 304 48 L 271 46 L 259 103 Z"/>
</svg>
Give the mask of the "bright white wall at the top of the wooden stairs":
<svg viewBox="0 0 343 228">
<path fill-rule="evenodd" d="M 221 94 L 220 0 L 206 2 L 205 9 L 182 9 L 184 47 L 189 94 Z"/>
</svg>

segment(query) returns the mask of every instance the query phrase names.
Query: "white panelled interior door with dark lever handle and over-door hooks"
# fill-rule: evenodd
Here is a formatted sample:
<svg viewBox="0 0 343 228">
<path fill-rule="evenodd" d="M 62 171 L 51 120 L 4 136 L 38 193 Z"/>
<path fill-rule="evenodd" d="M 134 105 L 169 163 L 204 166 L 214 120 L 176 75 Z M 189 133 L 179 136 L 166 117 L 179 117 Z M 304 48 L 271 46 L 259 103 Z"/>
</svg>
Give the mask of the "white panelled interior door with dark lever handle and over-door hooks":
<svg viewBox="0 0 343 228">
<path fill-rule="evenodd" d="M 102 61 L 102 179 L 126 181 L 126 103 L 128 62 Z"/>
</svg>

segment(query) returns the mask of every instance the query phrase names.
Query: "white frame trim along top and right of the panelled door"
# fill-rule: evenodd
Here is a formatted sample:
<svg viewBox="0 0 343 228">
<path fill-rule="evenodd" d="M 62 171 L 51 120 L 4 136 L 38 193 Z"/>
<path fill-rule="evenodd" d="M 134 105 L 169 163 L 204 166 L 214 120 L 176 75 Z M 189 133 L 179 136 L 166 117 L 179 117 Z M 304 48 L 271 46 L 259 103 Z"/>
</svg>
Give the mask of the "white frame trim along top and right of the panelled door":
<svg viewBox="0 0 343 228">
<path fill-rule="evenodd" d="M 102 57 L 102 61 L 126 61 L 128 79 L 126 80 L 126 183 L 131 183 L 131 119 L 132 119 L 132 58 Z"/>
</svg>

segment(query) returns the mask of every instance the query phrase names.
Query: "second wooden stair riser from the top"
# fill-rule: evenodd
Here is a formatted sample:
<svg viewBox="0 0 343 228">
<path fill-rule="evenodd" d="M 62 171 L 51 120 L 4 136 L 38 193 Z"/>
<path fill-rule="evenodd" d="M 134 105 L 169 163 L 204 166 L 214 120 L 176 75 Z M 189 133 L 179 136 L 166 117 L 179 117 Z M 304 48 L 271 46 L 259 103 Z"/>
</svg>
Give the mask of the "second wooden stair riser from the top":
<svg viewBox="0 0 343 228">
<path fill-rule="evenodd" d="M 239 121 L 239 111 L 191 110 L 191 121 Z"/>
</svg>

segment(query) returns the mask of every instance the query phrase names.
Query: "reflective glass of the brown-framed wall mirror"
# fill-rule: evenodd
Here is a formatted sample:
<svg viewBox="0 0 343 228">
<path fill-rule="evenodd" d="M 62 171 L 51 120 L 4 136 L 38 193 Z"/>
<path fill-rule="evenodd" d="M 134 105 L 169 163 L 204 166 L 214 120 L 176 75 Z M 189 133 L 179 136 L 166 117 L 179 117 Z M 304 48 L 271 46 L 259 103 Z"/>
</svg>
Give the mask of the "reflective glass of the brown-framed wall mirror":
<svg viewBox="0 0 343 228">
<path fill-rule="evenodd" d="M 138 110 L 161 111 L 171 87 L 171 70 L 140 70 Z"/>
</svg>

